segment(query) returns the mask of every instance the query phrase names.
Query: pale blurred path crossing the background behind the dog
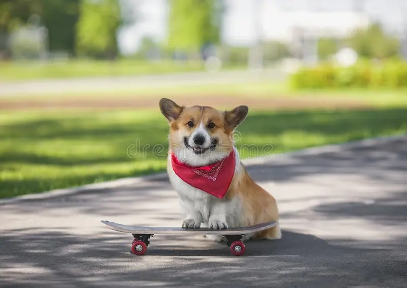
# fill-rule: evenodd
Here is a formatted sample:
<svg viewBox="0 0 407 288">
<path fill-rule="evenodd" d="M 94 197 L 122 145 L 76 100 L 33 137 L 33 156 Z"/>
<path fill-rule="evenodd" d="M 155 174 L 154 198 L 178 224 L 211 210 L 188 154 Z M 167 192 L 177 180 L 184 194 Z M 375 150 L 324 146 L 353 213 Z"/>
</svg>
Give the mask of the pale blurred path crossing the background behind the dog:
<svg viewBox="0 0 407 288">
<path fill-rule="evenodd" d="M 162 75 L 138 75 L 117 77 L 85 77 L 66 79 L 35 79 L 13 82 L 0 81 L 2 96 L 36 96 L 63 93 L 117 92 L 133 89 L 177 87 L 180 85 L 223 84 L 258 82 L 261 80 L 281 80 L 285 75 L 280 69 L 264 71 L 231 70 L 219 72 L 185 72 Z"/>
</svg>

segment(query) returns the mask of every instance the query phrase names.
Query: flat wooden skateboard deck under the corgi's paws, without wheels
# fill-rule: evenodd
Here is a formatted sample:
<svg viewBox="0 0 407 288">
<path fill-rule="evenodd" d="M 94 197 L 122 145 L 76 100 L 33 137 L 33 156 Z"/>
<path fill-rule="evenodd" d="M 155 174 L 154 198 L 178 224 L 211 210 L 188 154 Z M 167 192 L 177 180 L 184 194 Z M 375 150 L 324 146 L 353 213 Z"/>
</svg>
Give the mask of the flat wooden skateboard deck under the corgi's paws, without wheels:
<svg viewBox="0 0 407 288">
<path fill-rule="evenodd" d="M 277 221 L 265 222 L 253 226 L 210 229 L 210 228 L 181 228 L 181 227 L 147 227 L 147 226 L 128 226 L 110 221 L 100 221 L 107 228 L 114 231 L 131 234 L 201 234 L 201 235 L 245 235 L 248 233 L 259 232 L 277 225 Z"/>
</svg>

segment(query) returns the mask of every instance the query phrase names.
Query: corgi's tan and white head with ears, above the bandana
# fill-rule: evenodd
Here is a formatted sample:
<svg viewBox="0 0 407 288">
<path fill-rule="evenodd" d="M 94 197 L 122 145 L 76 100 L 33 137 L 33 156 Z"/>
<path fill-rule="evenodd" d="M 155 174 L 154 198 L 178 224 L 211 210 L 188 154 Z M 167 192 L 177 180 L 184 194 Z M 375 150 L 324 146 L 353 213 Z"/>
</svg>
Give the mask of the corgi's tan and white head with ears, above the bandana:
<svg viewBox="0 0 407 288">
<path fill-rule="evenodd" d="M 205 166 L 229 155 L 232 133 L 247 116 L 247 106 L 231 111 L 212 107 L 181 107 L 169 99 L 160 100 L 160 109 L 170 125 L 169 146 L 181 162 Z"/>
</svg>

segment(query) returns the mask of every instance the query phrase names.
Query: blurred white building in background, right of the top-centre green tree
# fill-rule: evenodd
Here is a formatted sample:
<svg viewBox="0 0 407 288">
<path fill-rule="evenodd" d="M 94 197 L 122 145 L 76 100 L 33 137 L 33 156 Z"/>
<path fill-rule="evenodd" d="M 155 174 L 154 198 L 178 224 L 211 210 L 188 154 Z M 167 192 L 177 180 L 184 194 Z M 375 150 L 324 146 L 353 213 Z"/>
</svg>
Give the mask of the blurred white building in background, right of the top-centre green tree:
<svg viewBox="0 0 407 288">
<path fill-rule="evenodd" d="M 295 41 L 299 33 L 309 37 L 341 38 L 370 23 L 366 14 L 351 10 L 292 10 L 272 0 L 245 2 L 227 2 L 223 19 L 223 38 L 227 44 L 251 45 L 258 37 L 264 41 L 289 43 Z"/>
</svg>

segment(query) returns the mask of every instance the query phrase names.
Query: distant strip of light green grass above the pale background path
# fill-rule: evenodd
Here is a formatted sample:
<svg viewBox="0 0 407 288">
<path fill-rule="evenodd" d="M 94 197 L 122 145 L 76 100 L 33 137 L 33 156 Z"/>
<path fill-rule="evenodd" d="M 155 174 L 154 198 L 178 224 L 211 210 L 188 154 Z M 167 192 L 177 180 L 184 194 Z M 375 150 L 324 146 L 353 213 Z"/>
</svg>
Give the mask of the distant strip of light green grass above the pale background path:
<svg viewBox="0 0 407 288">
<path fill-rule="evenodd" d="M 147 62 L 141 60 L 60 62 L 0 62 L 0 81 L 161 74 L 203 70 L 201 62 Z"/>
</svg>

